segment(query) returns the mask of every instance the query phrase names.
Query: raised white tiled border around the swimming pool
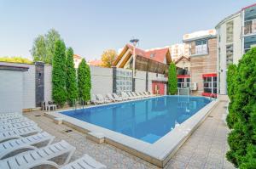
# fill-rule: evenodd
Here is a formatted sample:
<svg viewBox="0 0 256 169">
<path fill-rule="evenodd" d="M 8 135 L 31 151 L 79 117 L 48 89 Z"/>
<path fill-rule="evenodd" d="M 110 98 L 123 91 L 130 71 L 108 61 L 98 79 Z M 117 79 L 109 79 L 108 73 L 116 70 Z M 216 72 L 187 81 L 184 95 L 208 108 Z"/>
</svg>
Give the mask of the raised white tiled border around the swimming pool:
<svg viewBox="0 0 256 169">
<path fill-rule="evenodd" d="M 127 102 L 130 102 L 130 100 Z M 136 155 L 137 157 L 153 163 L 156 166 L 164 167 L 171 159 L 172 155 L 176 153 L 177 149 L 179 149 L 187 138 L 189 138 L 192 132 L 194 132 L 195 129 L 201 125 L 201 123 L 206 119 L 207 115 L 217 104 L 218 99 L 212 100 L 211 103 L 207 104 L 197 113 L 195 113 L 195 115 L 189 117 L 189 119 L 184 121 L 180 126 L 175 127 L 172 132 L 168 132 L 164 137 L 160 138 L 154 144 L 149 144 L 119 132 L 113 132 L 107 128 L 99 127 L 86 121 L 80 121 L 79 119 L 60 113 L 67 110 L 45 112 L 44 114 L 51 118 L 61 118 L 64 124 L 69 127 L 73 127 L 80 132 L 102 133 L 107 144 L 112 144 L 113 146 L 123 149 L 132 155 Z M 90 107 L 95 107 L 95 105 Z"/>
</svg>

